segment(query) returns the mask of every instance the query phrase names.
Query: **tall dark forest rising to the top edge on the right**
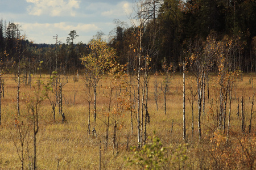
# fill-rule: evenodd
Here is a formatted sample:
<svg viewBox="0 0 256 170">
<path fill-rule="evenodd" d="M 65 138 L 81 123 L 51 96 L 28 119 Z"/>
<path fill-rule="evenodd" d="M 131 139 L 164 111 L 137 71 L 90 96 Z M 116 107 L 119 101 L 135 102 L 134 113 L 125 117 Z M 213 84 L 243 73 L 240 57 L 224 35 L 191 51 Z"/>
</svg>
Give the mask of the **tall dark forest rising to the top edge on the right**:
<svg viewBox="0 0 256 170">
<path fill-rule="evenodd" d="M 242 71 L 255 71 L 255 1 L 154 0 L 144 1 L 144 5 L 147 7 L 142 15 L 148 20 L 143 25 L 142 46 L 146 53 L 148 45 L 154 43 L 154 48 L 150 49 L 154 70 L 160 70 L 164 60 L 182 70 L 179 62 L 184 58 L 184 50 L 214 33 L 217 41 L 224 37 L 237 40 L 240 48 L 233 62 Z M 127 49 L 135 44 L 131 35 L 135 35 L 137 29 L 119 24 L 110 42 L 124 63 L 130 61 Z"/>
</svg>

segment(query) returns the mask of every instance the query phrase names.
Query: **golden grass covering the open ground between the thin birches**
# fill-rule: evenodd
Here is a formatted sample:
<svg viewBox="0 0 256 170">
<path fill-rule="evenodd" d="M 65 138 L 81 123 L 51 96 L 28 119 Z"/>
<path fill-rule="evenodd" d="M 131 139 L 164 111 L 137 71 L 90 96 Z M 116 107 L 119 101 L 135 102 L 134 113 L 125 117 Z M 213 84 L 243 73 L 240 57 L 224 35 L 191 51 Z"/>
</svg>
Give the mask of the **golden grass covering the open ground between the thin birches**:
<svg viewBox="0 0 256 170">
<path fill-rule="evenodd" d="M 245 97 L 245 111 L 246 111 L 246 134 L 249 125 L 251 104 L 249 97 L 254 94 L 255 88 L 253 84 L 249 83 L 250 76 L 255 78 L 255 75 L 245 75 L 243 80 L 237 80 L 236 88 L 233 91 L 232 102 L 232 117 L 230 129 L 233 132 L 233 136 L 230 137 L 232 143 L 228 146 L 230 149 L 236 149 L 238 142 L 237 138 L 248 137 L 252 138 L 253 135 L 243 135 L 240 130 L 241 120 L 237 118 L 237 103 L 238 97 Z M 38 75 L 34 78 L 34 83 L 38 79 Z M 157 76 L 157 81 L 162 82 L 163 77 Z M 26 120 L 27 108 L 26 100 L 28 94 L 32 93 L 32 89 L 22 83 L 20 88 L 20 112 L 21 116 L 16 116 L 16 83 L 14 75 L 5 75 L 5 97 L 2 97 L 2 120 L 0 126 L 0 169 L 18 169 L 20 168 L 20 160 L 14 147 L 14 142 L 18 140 L 18 132 L 14 128 L 15 117 L 19 120 Z M 197 102 L 194 105 L 194 139 L 191 139 L 191 107 L 186 101 L 186 123 L 187 123 L 187 167 L 188 169 L 199 168 L 212 168 L 214 163 L 209 160 L 209 150 L 215 148 L 214 143 L 210 142 L 210 138 L 213 137 L 214 123 L 212 113 L 209 112 L 210 101 L 216 103 L 218 99 L 217 88 L 215 82 L 216 76 L 210 75 L 210 99 L 205 100 L 205 116 L 202 116 L 202 132 L 203 139 L 198 142 L 197 137 Z M 42 75 L 43 82 L 49 80 L 48 75 Z M 169 92 L 167 95 L 167 114 L 164 114 L 163 107 L 163 94 L 158 97 L 158 111 L 156 111 L 156 105 L 154 100 L 154 84 L 155 76 L 150 77 L 149 93 L 148 93 L 148 112 L 150 114 L 150 124 L 147 126 L 148 135 L 152 135 L 153 131 L 156 131 L 156 135 L 161 139 L 164 146 L 177 145 L 183 143 L 183 95 L 182 95 L 182 76 L 180 74 L 175 75 L 175 79 L 171 80 Z M 133 152 L 126 151 L 127 137 L 129 137 L 129 147 L 137 146 L 137 121 L 135 120 L 135 114 L 133 115 L 134 133 L 130 134 L 130 113 L 123 111 L 120 116 L 116 117 L 118 120 L 117 130 L 117 143 L 118 153 L 113 151 L 113 119 L 111 118 L 111 125 L 109 129 L 109 148 L 108 151 L 104 151 L 105 147 L 105 123 L 106 116 L 104 112 L 108 108 L 110 77 L 104 77 L 99 82 L 97 91 L 97 121 L 93 122 L 93 115 L 91 114 L 91 129 L 94 127 L 97 131 L 98 138 L 92 138 L 92 135 L 88 137 L 88 102 L 87 91 L 84 87 L 84 82 L 80 77 L 79 82 L 73 82 L 72 76 L 69 82 L 63 88 L 63 112 L 67 122 L 61 122 L 61 116 L 59 115 L 56 106 L 56 120 L 53 121 L 52 108 L 48 100 L 43 101 L 42 106 L 39 109 L 39 133 L 37 135 L 37 165 L 39 169 L 57 169 L 59 162 L 59 169 L 98 169 L 99 167 L 99 147 L 101 142 L 102 148 L 102 162 L 101 167 L 104 169 L 130 169 L 135 167 L 127 167 L 125 162 L 125 156 L 133 155 Z M 215 84 L 215 87 L 214 87 Z M 256 86 L 256 84 L 255 84 Z M 136 89 L 136 86 L 134 86 Z M 126 91 L 124 88 L 122 91 Z M 75 104 L 74 101 L 74 93 Z M 160 91 L 159 91 L 160 92 Z M 187 90 L 188 92 L 188 90 Z M 112 110 L 115 105 L 116 97 L 118 96 L 119 88 L 113 92 Z M 51 94 L 49 94 L 51 95 Z M 126 96 L 128 97 L 128 96 Z M 93 108 L 93 102 L 91 103 Z M 254 108 L 256 109 L 256 108 Z M 105 111 L 104 111 L 105 110 Z M 136 109 L 135 109 L 136 110 Z M 111 117 L 114 117 L 111 114 Z M 174 120 L 174 127 L 171 133 L 172 120 Z M 255 134 L 255 115 L 253 115 L 253 134 Z M 30 133 L 31 142 L 32 134 Z M 255 137 L 254 137 L 255 138 Z M 17 144 L 19 144 L 17 142 Z M 236 145 L 235 145 L 236 144 Z M 246 143 L 245 145 L 247 145 Z M 30 159 L 28 156 L 32 156 L 32 142 L 28 145 L 28 155 L 26 155 L 25 169 L 28 169 Z M 113 154 L 114 152 L 114 154 Z M 230 151 L 231 153 L 231 151 Z M 169 153 L 170 154 L 170 153 Z M 255 154 L 252 154 L 255 156 Z M 255 157 L 256 158 L 256 157 Z M 255 163 L 253 164 L 255 168 Z M 240 168 L 237 166 L 237 168 Z M 172 167 L 169 167 L 172 169 Z"/>
</svg>

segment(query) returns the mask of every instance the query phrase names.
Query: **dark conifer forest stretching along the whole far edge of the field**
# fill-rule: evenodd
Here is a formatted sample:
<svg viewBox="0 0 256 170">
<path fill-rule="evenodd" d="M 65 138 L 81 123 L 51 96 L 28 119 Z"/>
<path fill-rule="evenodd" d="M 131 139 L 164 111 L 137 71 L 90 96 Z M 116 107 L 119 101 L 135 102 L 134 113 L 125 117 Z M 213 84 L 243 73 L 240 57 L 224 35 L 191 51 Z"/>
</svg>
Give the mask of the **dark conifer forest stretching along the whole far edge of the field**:
<svg viewBox="0 0 256 170">
<path fill-rule="evenodd" d="M 116 61 L 133 71 L 136 66 L 135 49 L 151 59 L 151 72 L 162 70 L 163 62 L 172 63 L 176 71 L 189 49 L 203 50 L 207 39 L 236 42 L 232 53 L 232 67 L 243 72 L 256 71 L 256 2 L 254 0 L 151 0 L 137 14 L 144 22 L 131 27 L 116 20 L 107 43 L 117 53 Z M 139 29 L 142 28 L 142 35 Z M 80 57 L 90 53 L 88 45 L 74 44 L 75 30 L 67 35 L 66 42 L 33 44 L 20 35 L 20 25 L 0 22 L 0 57 L 2 69 L 13 69 L 18 63 L 23 68 L 51 73 L 56 67 L 75 73 L 83 69 Z M 100 38 L 98 33 L 94 38 Z M 139 40 L 141 39 L 141 40 Z M 53 40 L 54 42 L 55 40 Z M 139 43 L 141 42 L 141 47 Z M 43 61 L 43 62 L 42 62 Z M 57 65 L 56 65 L 57 63 Z"/>
</svg>

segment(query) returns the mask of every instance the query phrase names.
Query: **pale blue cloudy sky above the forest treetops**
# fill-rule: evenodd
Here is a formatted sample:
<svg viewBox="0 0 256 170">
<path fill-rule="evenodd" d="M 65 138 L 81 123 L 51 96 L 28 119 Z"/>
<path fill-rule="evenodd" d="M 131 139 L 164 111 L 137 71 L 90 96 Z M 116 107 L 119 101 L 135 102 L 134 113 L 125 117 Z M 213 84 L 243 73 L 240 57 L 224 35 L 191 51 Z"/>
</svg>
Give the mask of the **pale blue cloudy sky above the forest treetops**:
<svg viewBox="0 0 256 170">
<path fill-rule="evenodd" d="M 133 0 L 0 0 L 0 18 L 20 24 L 27 39 L 35 43 L 54 44 L 58 35 L 66 42 L 76 30 L 75 42 L 87 43 L 98 31 L 109 34 L 114 19 L 130 25 Z"/>
</svg>

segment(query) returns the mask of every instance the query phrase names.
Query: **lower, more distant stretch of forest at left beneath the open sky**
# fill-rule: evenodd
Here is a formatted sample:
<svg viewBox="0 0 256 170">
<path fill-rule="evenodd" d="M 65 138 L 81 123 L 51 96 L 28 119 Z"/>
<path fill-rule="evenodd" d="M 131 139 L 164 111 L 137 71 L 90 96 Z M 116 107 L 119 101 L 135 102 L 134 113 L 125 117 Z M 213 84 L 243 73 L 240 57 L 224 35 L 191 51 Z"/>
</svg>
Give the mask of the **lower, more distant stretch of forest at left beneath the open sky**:
<svg viewBox="0 0 256 170">
<path fill-rule="evenodd" d="M 14 66 L 18 63 L 19 53 L 20 63 L 24 74 L 44 73 L 51 74 L 52 71 L 57 68 L 61 68 L 63 71 L 77 71 L 81 69 L 80 57 L 82 54 L 87 54 L 86 44 L 78 42 L 74 44 L 74 40 L 77 36 L 75 30 L 71 31 L 67 37 L 67 42 L 61 42 L 53 36 L 53 42 L 56 39 L 55 44 L 35 44 L 27 39 L 26 35 L 21 35 L 20 31 L 22 26 L 19 24 L 8 24 L 0 20 L 0 57 L 2 62 L 2 69 L 5 71 L 12 71 L 15 73 Z M 57 54 L 57 57 L 56 57 Z M 57 63 L 57 65 L 55 64 Z M 36 69 L 40 65 L 40 70 Z M 59 70 L 59 71 L 60 71 Z"/>
</svg>

